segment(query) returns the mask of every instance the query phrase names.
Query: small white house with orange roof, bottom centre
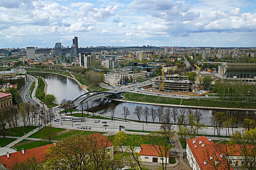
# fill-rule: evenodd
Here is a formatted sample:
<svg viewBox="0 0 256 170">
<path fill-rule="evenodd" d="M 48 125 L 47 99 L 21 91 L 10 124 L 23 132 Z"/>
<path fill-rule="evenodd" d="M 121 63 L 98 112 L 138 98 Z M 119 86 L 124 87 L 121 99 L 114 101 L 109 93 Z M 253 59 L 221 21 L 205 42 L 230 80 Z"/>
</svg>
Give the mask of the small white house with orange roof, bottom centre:
<svg viewBox="0 0 256 170">
<path fill-rule="evenodd" d="M 158 148 L 158 146 L 156 147 Z M 140 158 L 142 162 L 156 162 L 156 163 L 162 163 L 162 159 L 159 153 L 159 149 L 156 149 L 154 146 L 149 144 L 141 144 L 141 150 L 140 150 Z M 163 149 L 165 150 L 165 149 Z M 162 151 L 163 151 L 162 150 Z M 164 157 L 164 163 L 165 163 L 165 153 L 163 153 Z M 169 163 L 169 153 L 166 155 L 166 161 Z"/>
</svg>

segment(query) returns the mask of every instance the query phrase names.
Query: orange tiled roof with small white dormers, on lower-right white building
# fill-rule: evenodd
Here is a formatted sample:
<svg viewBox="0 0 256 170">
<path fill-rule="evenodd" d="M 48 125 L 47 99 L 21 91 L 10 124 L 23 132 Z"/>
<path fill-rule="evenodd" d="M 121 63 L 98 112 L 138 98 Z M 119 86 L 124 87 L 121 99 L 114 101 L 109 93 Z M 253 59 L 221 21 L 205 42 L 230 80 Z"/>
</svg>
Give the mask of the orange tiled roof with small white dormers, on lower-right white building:
<svg viewBox="0 0 256 170">
<path fill-rule="evenodd" d="M 196 140 L 196 142 L 193 143 L 193 140 Z M 213 141 L 209 141 L 205 136 L 200 136 L 194 139 L 187 139 L 186 142 L 201 170 L 214 170 L 214 167 L 209 163 L 204 165 L 204 161 L 210 161 L 210 156 L 213 156 L 211 162 L 214 163 L 216 160 L 221 160 L 220 164 L 224 164 L 227 161 L 224 156 L 222 158 L 220 157 L 220 152 L 217 150 L 215 143 Z M 195 147 L 196 145 L 197 147 Z M 216 156 L 218 156 L 218 158 Z M 219 165 L 218 170 L 225 169 Z M 230 167 L 230 170 L 233 170 L 233 168 Z"/>
</svg>

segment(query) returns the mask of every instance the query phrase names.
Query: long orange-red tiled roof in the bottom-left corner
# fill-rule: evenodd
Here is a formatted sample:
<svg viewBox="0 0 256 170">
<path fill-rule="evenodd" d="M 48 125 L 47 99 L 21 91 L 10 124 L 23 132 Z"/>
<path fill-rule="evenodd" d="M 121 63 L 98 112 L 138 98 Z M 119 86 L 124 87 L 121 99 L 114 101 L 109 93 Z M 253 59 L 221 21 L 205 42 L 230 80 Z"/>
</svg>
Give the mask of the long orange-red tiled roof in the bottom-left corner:
<svg viewBox="0 0 256 170">
<path fill-rule="evenodd" d="M 49 145 L 46 145 L 18 151 L 16 153 L 7 153 L 0 156 L 0 163 L 6 168 L 11 168 L 15 164 L 26 161 L 27 159 L 32 159 L 33 157 L 35 157 L 37 161 L 41 162 L 44 159 L 44 152 L 48 147 Z"/>
</svg>

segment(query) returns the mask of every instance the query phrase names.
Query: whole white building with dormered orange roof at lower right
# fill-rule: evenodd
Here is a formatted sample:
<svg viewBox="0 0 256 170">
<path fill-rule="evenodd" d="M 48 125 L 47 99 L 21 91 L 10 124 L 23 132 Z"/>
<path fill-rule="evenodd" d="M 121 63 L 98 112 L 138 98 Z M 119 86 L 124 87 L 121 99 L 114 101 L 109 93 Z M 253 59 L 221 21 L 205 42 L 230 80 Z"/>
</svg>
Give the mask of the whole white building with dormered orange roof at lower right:
<svg viewBox="0 0 256 170">
<path fill-rule="evenodd" d="M 192 170 L 226 170 L 227 160 L 211 138 L 201 136 L 188 139 L 186 143 L 187 159 Z M 233 170 L 231 166 L 230 170 Z"/>
</svg>

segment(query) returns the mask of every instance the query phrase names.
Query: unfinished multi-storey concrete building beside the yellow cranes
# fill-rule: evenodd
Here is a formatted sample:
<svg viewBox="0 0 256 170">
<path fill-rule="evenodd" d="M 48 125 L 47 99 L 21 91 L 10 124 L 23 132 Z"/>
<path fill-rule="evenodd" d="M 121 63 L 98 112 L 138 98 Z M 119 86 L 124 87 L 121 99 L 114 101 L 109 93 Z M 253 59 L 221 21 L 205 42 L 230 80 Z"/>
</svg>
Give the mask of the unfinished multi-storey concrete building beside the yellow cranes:
<svg viewBox="0 0 256 170">
<path fill-rule="evenodd" d="M 155 90 L 161 90 L 165 92 L 171 91 L 189 91 L 189 81 L 188 76 L 179 76 L 179 75 L 165 75 L 164 81 L 162 77 L 156 78 L 153 83 L 153 88 Z M 163 86 L 163 87 L 162 87 Z"/>
</svg>

